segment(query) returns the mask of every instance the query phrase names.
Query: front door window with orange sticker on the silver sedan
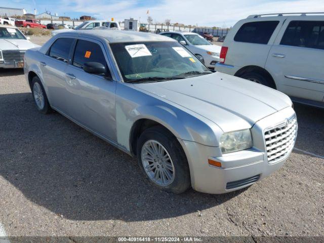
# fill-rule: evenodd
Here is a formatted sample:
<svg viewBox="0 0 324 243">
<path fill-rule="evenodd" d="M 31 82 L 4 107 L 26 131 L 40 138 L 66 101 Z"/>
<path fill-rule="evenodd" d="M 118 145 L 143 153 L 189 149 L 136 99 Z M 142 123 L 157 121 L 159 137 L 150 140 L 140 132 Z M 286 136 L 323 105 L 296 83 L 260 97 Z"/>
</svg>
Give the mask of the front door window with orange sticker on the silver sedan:
<svg viewBox="0 0 324 243">
<path fill-rule="evenodd" d="M 107 67 L 101 47 L 96 43 L 79 39 L 74 51 L 73 65 L 83 68 L 85 62 L 100 62 Z"/>
</svg>

